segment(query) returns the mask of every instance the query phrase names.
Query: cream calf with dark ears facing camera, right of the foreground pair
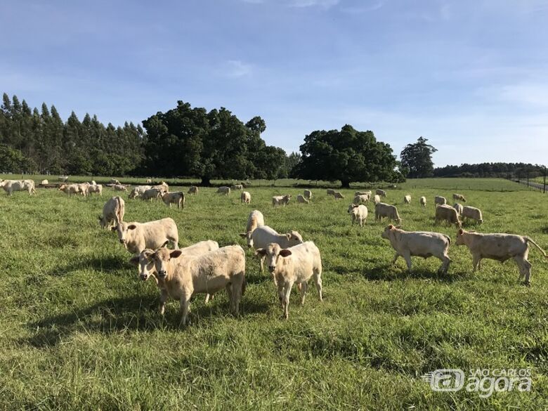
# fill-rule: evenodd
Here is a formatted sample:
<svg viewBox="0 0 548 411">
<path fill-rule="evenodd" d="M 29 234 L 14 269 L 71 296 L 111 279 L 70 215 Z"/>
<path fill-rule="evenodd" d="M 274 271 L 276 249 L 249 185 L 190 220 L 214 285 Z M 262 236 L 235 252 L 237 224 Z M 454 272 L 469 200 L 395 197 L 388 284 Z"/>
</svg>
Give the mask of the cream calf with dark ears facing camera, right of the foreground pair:
<svg viewBox="0 0 548 411">
<path fill-rule="evenodd" d="M 256 249 L 255 253 L 267 261 L 268 270 L 278 287 L 283 318 L 289 318 L 289 296 L 294 283 L 300 285 L 301 305 L 304 305 L 308 280 L 313 277 L 318 289 L 318 298 L 322 301 L 322 257 L 313 242 L 307 241 L 285 249 L 279 244 L 272 243 Z"/>
</svg>

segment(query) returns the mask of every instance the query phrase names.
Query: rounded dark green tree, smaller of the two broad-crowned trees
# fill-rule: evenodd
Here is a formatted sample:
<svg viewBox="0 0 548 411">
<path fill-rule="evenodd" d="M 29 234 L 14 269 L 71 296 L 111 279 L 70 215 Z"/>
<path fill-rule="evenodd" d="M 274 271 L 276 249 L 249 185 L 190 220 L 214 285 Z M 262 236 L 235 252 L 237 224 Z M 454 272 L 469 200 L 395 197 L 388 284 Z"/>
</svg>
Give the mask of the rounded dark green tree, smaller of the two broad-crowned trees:
<svg viewBox="0 0 548 411">
<path fill-rule="evenodd" d="M 294 176 L 311 180 L 340 180 L 348 188 L 353 181 L 396 180 L 396 158 L 390 145 L 377 141 L 372 131 L 346 125 L 341 131 L 313 131 L 301 145 L 301 162 Z"/>
</svg>

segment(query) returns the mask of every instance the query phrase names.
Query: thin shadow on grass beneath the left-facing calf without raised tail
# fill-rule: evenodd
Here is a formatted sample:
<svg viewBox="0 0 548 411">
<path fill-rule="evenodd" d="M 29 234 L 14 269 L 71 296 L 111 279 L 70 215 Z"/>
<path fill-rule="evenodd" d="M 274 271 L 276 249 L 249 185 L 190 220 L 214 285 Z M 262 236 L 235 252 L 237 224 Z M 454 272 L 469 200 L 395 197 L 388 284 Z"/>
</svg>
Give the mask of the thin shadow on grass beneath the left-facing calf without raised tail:
<svg viewBox="0 0 548 411">
<path fill-rule="evenodd" d="M 383 266 L 377 266 L 372 269 L 366 269 L 362 271 L 363 277 L 367 280 L 377 281 L 396 281 L 396 280 L 408 280 L 408 279 L 423 279 L 434 280 L 441 282 L 455 282 L 462 280 L 465 273 L 455 273 L 451 271 L 451 267 L 447 274 L 440 274 L 437 270 L 425 270 L 423 268 L 412 268 L 412 273 L 407 271 L 407 267 L 401 268 L 400 266 L 392 266 L 391 264 L 385 264 Z"/>
</svg>

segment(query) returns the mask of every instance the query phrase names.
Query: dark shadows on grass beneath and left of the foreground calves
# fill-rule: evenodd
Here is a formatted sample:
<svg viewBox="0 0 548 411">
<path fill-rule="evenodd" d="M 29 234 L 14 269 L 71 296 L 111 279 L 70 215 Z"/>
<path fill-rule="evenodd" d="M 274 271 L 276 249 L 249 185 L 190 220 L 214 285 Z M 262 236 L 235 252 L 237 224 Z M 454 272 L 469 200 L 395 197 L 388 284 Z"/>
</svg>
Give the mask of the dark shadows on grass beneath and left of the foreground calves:
<svg viewBox="0 0 548 411">
<path fill-rule="evenodd" d="M 221 295 L 223 294 L 223 295 Z M 192 324 L 200 319 L 207 321 L 221 320 L 221 316 L 230 315 L 228 299 L 225 292 L 218 292 L 213 301 L 204 305 L 204 294 L 197 294 L 192 299 L 192 311 L 189 315 Z M 173 304 L 173 302 L 175 304 Z M 150 332 L 153 330 L 178 330 L 181 315 L 178 302 L 169 299 L 165 316 L 159 315 L 158 296 L 127 296 L 106 299 L 92 306 L 81 308 L 70 313 L 52 315 L 29 324 L 34 334 L 22 341 L 37 348 L 56 346 L 63 339 L 76 332 L 117 334 L 126 331 Z M 269 304 L 248 300 L 245 295 L 240 301 L 240 315 L 266 313 Z M 181 328 L 181 331 L 184 328 Z"/>
</svg>

